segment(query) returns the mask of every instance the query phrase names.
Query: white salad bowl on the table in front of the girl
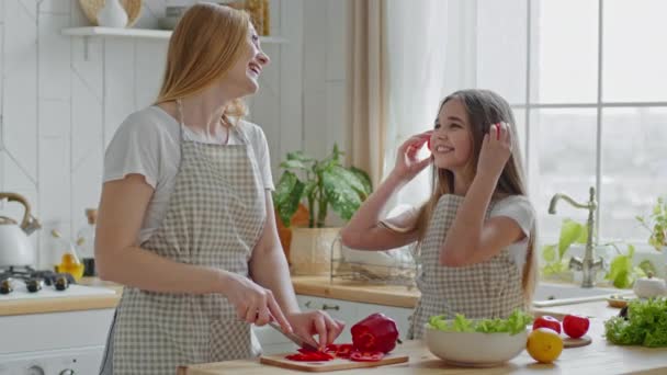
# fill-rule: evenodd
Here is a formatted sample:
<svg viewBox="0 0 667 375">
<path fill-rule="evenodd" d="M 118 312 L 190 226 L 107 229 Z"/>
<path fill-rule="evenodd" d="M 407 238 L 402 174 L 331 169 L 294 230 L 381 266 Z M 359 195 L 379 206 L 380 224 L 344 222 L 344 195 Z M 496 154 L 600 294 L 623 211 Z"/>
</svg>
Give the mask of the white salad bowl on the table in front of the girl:
<svg viewBox="0 0 667 375">
<path fill-rule="evenodd" d="M 448 321 L 449 323 L 449 321 Z M 525 349 L 528 329 L 510 333 L 445 332 L 427 323 L 426 344 L 436 356 L 445 362 L 466 367 L 493 367 L 502 365 Z"/>
</svg>

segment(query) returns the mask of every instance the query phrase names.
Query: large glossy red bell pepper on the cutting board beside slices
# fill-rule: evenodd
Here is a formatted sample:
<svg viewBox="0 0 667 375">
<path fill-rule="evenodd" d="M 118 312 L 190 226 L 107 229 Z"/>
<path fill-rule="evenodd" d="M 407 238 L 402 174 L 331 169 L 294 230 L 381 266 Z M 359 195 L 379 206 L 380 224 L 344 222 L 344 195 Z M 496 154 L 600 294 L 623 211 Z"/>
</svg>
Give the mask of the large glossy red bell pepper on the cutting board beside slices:
<svg viewBox="0 0 667 375">
<path fill-rule="evenodd" d="M 398 328 L 382 312 L 372 314 L 352 326 L 352 343 L 361 352 L 388 353 L 396 348 Z"/>
</svg>

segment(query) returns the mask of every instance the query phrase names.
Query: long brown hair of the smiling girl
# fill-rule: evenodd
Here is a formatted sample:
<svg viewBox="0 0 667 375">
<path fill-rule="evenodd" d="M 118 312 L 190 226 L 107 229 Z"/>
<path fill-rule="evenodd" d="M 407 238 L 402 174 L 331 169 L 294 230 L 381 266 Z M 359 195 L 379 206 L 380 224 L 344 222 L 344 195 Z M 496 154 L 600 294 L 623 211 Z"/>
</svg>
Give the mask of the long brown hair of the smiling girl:
<svg viewBox="0 0 667 375">
<path fill-rule="evenodd" d="M 521 152 L 519 151 L 519 139 L 517 137 L 517 128 L 515 115 L 511 107 L 502 96 L 489 90 L 461 90 L 446 96 L 440 105 L 442 106 L 451 100 L 459 100 L 465 107 L 467 120 L 471 125 L 473 137 L 473 157 L 468 160 L 467 168 L 474 173 L 477 172 L 477 161 L 479 151 L 482 150 L 482 140 L 484 135 L 490 130 L 490 125 L 499 122 L 506 122 L 511 127 L 512 154 L 502 169 L 498 185 L 496 186 L 495 195 L 527 195 L 527 189 L 523 178 L 523 163 L 521 161 Z M 417 228 L 419 230 L 419 241 L 423 239 L 428 224 L 433 215 L 433 209 L 440 197 L 444 194 L 454 192 L 454 173 L 449 170 L 433 168 L 432 193 L 430 198 L 421 206 L 417 219 Z M 522 288 L 523 297 L 527 303 L 530 303 L 535 291 L 538 281 L 538 259 L 535 257 L 535 227 L 531 229 L 528 243 L 528 253 L 525 258 L 525 266 L 523 268 Z"/>
</svg>

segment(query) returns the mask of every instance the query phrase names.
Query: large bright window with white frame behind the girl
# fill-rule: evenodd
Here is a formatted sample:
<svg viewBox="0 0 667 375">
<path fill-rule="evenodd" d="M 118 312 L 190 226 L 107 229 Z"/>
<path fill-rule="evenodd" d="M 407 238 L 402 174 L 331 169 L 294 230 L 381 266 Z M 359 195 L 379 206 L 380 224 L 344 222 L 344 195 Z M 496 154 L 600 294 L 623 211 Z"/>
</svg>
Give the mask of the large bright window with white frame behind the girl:
<svg viewBox="0 0 667 375">
<path fill-rule="evenodd" d="M 544 241 L 598 192 L 600 241 L 646 243 L 635 216 L 667 194 L 667 27 L 662 0 L 478 0 L 475 84 L 519 121 Z"/>
</svg>

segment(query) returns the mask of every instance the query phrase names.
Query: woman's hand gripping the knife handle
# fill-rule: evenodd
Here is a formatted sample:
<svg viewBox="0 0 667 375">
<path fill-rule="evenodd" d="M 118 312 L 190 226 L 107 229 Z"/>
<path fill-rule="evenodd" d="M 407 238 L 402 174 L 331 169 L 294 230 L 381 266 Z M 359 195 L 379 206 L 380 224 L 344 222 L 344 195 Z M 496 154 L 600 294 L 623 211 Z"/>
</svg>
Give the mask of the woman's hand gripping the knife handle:
<svg viewBox="0 0 667 375">
<path fill-rule="evenodd" d="M 256 326 L 263 326 L 275 319 L 283 331 L 292 332 L 292 326 L 285 318 L 273 293 L 250 279 L 233 272 L 226 272 L 223 280 L 223 294 L 236 307 L 239 319 Z"/>
</svg>

